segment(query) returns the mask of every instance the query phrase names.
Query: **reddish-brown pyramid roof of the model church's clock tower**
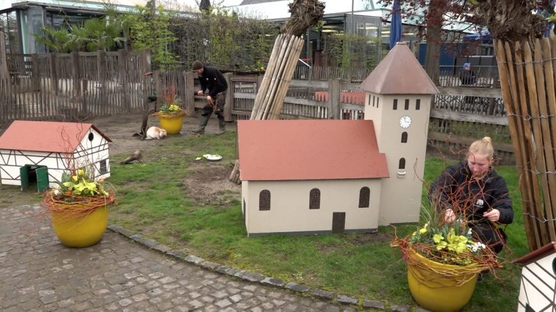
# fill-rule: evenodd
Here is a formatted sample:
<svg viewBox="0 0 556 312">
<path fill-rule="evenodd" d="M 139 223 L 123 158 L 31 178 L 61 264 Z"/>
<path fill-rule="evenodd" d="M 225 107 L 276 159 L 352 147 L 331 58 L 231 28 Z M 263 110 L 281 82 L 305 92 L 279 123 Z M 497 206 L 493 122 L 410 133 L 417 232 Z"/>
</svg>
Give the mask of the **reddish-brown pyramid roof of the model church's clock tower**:
<svg viewBox="0 0 556 312">
<path fill-rule="evenodd" d="M 434 83 L 407 44 L 398 42 L 361 83 L 375 94 L 438 94 Z"/>
</svg>

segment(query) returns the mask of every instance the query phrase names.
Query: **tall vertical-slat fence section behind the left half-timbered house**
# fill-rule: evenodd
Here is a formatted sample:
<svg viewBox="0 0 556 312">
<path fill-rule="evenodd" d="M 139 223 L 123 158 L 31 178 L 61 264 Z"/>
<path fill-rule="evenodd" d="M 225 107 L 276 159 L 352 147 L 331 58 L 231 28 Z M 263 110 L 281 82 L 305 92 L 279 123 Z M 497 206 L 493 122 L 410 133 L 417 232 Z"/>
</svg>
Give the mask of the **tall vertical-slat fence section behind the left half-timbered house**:
<svg viewBox="0 0 556 312">
<path fill-rule="evenodd" d="M 148 50 L 8 54 L 5 60 L 10 90 L 1 89 L 0 121 L 85 119 L 147 103 Z"/>
</svg>

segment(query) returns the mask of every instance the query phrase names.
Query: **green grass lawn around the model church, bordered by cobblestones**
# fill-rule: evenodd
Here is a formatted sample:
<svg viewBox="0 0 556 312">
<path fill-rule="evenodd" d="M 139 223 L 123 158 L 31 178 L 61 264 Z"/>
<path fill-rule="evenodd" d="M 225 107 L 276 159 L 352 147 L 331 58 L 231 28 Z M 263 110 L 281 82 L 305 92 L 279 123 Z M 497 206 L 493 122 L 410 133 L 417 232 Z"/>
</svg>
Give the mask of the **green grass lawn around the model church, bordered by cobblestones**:
<svg viewBox="0 0 556 312">
<path fill-rule="evenodd" d="M 192 199 L 195 194 L 184 187 L 194 169 L 231 164 L 235 132 L 228 131 L 220 137 L 170 136 L 153 144 L 157 146 L 145 153 L 144 165 L 120 165 L 120 160 L 128 155 L 111 157 L 109 181 L 120 198 L 111 209 L 111 223 L 227 266 L 355 297 L 415 305 L 400 252 L 389 245 L 395 232 L 404 236 L 413 232 L 415 225 L 380 227 L 377 234 L 247 238 L 237 193 L 224 187 L 218 190 L 218 196 L 228 195 L 231 199 L 225 205 L 218 200 L 213 204 L 210 200 Z M 219 163 L 195 161 L 195 157 L 206 153 L 219 154 L 224 159 Z M 441 159 L 427 159 L 425 180 L 430 182 L 446 165 Z M 528 252 L 518 177 L 514 166 L 496 170 L 513 191 L 516 218 L 506 229 L 512 252 L 502 254 L 511 261 Z M 0 188 L 0 195 L 4 191 L 6 187 Z M 521 268 L 508 262 L 498 270 L 498 278 L 487 275 L 477 284 L 465 310 L 515 311 L 520 272 Z"/>
</svg>

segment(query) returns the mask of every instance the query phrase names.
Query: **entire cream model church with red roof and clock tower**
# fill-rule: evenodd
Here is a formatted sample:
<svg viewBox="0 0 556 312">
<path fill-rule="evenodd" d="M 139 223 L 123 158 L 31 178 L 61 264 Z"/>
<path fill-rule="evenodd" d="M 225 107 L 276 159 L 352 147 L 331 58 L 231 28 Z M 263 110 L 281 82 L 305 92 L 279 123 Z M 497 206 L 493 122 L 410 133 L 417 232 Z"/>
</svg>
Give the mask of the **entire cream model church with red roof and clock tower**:
<svg viewBox="0 0 556 312">
<path fill-rule="evenodd" d="M 365 120 L 238 121 L 248 236 L 376 232 L 418 221 L 438 89 L 402 43 L 361 89 Z"/>
</svg>

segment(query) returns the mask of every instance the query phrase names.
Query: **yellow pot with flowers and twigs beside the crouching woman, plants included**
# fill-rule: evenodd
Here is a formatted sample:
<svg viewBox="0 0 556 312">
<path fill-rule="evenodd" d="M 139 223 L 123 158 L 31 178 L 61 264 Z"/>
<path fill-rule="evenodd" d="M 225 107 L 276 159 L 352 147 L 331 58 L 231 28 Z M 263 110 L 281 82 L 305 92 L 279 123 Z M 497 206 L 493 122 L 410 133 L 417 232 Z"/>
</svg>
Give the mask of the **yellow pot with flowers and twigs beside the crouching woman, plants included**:
<svg viewBox="0 0 556 312">
<path fill-rule="evenodd" d="M 496 253 L 475 239 L 465 219 L 445 223 L 433 205 L 421 210 L 424 225 L 391 246 L 407 263 L 409 291 L 415 301 L 435 312 L 458 311 L 471 299 L 477 277 L 500 266 Z"/>
</svg>

